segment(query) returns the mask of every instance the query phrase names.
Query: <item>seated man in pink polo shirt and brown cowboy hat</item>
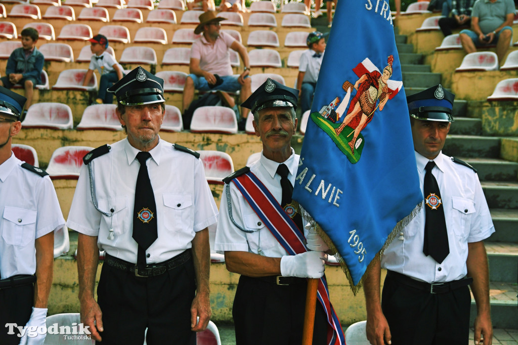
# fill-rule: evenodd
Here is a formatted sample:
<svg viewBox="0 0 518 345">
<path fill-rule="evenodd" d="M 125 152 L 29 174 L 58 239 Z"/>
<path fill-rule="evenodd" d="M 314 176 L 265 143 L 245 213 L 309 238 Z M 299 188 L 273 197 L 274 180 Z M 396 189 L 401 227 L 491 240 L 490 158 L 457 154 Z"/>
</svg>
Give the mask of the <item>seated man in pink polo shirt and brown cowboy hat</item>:
<svg viewBox="0 0 518 345">
<path fill-rule="evenodd" d="M 207 11 L 199 16 L 199 25 L 194 29 L 195 34 L 203 32 L 191 48 L 190 75 L 185 80 L 183 88 L 183 111 L 189 108 L 194 90 L 198 91 L 229 91 L 241 90 L 241 103 L 251 94 L 249 78 L 250 63 L 247 49 L 231 35 L 220 32 L 220 21 L 225 18 L 217 17 L 214 12 Z M 233 75 L 228 48 L 239 53 L 244 70 L 237 76 Z M 248 117 L 248 109 L 241 107 L 240 130 Z"/>
</svg>

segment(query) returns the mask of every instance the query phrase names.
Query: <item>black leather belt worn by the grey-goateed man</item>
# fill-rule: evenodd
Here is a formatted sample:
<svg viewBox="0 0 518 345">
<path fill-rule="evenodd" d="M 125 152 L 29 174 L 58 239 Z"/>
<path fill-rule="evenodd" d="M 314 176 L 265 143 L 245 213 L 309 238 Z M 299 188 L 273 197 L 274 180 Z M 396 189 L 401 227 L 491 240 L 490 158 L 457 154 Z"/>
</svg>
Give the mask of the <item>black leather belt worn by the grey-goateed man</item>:
<svg viewBox="0 0 518 345">
<path fill-rule="evenodd" d="M 189 260 L 191 260 L 191 249 L 187 249 L 183 253 L 178 254 L 167 261 L 145 266 L 138 266 L 137 264 L 111 256 L 108 253 L 106 253 L 104 256 L 104 263 L 108 266 L 123 270 L 125 272 L 135 273 L 136 277 L 143 278 L 160 276 L 168 270 L 176 268 L 185 262 L 188 262 Z"/>
</svg>

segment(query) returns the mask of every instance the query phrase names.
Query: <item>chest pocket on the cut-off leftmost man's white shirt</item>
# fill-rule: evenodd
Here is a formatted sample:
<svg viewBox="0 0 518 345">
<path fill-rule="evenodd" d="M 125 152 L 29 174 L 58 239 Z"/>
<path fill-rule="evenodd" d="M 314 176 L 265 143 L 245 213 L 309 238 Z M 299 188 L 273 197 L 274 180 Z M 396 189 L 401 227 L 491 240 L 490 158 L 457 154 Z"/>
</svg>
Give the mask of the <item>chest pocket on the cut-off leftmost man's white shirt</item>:
<svg viewBox="0 0 518 345">
<path fill-rule="evenodd" d="M 11 246 L 27 246 L 36 238 L 38 212 L 18 207 L 4 207 L 2 238 Z"/>
</svg>

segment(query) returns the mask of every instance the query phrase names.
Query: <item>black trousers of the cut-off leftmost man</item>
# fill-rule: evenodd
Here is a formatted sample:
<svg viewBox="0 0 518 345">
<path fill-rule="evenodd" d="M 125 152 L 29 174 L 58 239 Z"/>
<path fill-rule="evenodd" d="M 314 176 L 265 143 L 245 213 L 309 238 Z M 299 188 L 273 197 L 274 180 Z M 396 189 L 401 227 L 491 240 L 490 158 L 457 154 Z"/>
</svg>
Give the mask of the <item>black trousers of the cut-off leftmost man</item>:
<svg viewBox="0 0 518 345">
<path fill-rule="evenodd" d="M 26 284 L 16 287 L 0 289 L 0 344 L 18 345 L 20 337 L 17 328 L 13 328 L 14 334 L 7 334 L 7 323 L 16 323 L 17 326 L 25 326 L 31 318 L 34 305 L 34 285 Z"/>
</svg>

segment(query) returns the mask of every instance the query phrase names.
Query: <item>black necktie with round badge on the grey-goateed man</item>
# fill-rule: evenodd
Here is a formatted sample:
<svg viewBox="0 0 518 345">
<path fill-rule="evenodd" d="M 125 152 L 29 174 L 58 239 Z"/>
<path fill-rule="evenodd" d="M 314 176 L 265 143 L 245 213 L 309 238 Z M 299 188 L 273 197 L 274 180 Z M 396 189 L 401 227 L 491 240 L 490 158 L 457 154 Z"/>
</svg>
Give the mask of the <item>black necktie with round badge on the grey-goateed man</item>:
<svg viewBox="0 0 518 345">
<path fill-rule="evenodd" d="M 138 170 L 133 208 L 133 238 L 138 243 L 137 264 L 146 264 L 146 249 L 158 237 L 155 196 L 146 166 L 149 157 L 151 157 L 149 152 L 137 153 L 140 169 Z"/>
</svg>

